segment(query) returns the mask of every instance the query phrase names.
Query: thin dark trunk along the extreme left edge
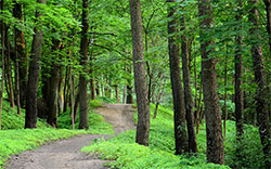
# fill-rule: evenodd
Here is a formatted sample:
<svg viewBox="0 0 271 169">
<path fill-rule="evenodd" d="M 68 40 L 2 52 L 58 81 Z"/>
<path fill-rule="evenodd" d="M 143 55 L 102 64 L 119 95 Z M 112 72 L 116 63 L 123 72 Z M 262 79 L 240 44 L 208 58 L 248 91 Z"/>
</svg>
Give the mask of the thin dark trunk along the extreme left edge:
<svg viewBox="0 0 271 169">
<path fill-rule="evenodd" d="M 4 6 L 4 0 L 1 0 L 1 11 L 3 11 Z M 1 12 L 2 13 L 2 12 Z M 5 73 L 5 67 L 4 67 L 4 23 L 3 21 L 0 22 L 1 24 L 1 42 L 2 42 L 2 77 L 1 77 L 1 90 L 0 90 L 0 130 L 1 130 L 1 123 L 2 123 L 2 103 L 3 103 L 3 83 L 4 83 L 4 73 Z"/>
</svg>

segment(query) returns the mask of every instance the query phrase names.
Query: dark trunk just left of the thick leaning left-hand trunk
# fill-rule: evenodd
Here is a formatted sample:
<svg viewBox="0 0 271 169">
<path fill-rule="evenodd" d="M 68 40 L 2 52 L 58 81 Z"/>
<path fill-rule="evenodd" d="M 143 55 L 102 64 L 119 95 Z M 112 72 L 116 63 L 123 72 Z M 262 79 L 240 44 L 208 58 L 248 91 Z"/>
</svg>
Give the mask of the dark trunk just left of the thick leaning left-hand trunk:
<svg viewBox="0 0 271 169">
<path fill-rule="evenodd" d="M 13 16 L 20 22 L 23 22 L 23 9 L 22 4 L 15 1 L 13 9 Z M 18 77 L 20 77 L 20 101 L 21 105 L 24 107 L 26 102 L 26 88 L 27 88 L 27 56 L 25 53 L 25 41 L 24 32 L 17 28 L 15 32 L 15 52 L 18 57 Z"/>
</svg>

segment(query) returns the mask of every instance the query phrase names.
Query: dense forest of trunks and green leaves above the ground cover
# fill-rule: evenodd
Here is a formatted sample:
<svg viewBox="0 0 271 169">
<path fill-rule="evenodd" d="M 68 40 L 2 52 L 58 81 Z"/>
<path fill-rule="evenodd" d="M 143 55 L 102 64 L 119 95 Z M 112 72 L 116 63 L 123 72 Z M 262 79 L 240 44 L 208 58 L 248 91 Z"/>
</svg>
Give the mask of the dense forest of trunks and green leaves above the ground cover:
<svg viewBox="0 0 271 169">
<path fill-rule="evenodd" d="M 1 0 L 0 110 L 7 100 L 18 115 L 26 109 L 25 128 L 37 128 L 38 117 L 59 128 L 59 117 L 69 114 L 72 129 L 78 121 L 89 129 L 91 100 L 137 103 L 136 141 L 149 145 L 151 103 L 154 119 L 159 106 L 173 109 L 177 155 L 197 154 L 205 123 L 207 161 L 224 165 L 230 120 L 240 161 L 230 166 L 245 165 L 249 126 L 261 141 L 258 167 L 270 168 L 270 4 Z"/>
</svg>

